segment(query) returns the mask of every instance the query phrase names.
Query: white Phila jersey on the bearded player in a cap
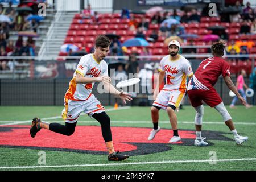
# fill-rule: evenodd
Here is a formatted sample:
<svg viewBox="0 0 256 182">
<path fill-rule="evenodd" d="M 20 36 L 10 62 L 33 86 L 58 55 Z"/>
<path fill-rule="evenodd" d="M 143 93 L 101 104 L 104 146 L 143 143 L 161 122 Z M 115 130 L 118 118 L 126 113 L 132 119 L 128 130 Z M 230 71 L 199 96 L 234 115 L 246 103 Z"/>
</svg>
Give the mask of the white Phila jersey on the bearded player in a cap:
<svg viewBox="0 0 256 182">
<path fill-rule="evenodd" d="M 164 56 L 159 64 L 159 71 L 166 73 L 166 84 L 163 90 L 180 90 L 185 92 L 187 88 L 187 76 L 191 77 L 193 71 L 189 61 L 181 55 L 177 55 L 176 60 L 171 60 L 171 56 Z"/>
</svg>

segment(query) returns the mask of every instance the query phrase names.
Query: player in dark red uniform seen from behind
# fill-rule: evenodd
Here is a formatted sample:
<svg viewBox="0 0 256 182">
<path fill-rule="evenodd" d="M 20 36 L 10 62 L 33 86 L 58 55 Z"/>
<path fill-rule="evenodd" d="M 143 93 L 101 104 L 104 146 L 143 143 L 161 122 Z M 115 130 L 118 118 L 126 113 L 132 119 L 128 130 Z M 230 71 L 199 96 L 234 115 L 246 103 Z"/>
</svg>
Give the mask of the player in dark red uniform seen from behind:
<svg viewBox="0 0 256 182">
<path fill-rule="evenodd" d="M 218 77 L 222 75 L 226 82 L 226 85 L 232 90 L 243 105 L 246 105 L 246 101 L 238 93 L 236 86 L 234 86 L 230 78 L 230 67 L 229 64 L 222 59 L 224 55 L 225 42 L 215 43 L 212 46 L 213 57 L 209 57 L 201 62 L 199 68 L 196 70 L 195 75 L 191 78 L 188 83 L 188 97 L 191 101 L 191 105 L 196 110 L 195 125 L 196 125 L 196 140 L 195 146 L 207 146 L 208 143 L 204 142 L 201 137 L 201 128 L 204 115 L 203 102 L 208 104 L 210 107 L 214 107 L 221 115 L 225 124 L 229 127 L 230 131 L 234 135 L 234 140 L 237 144 L 246 142 L 248 137 L 242 137 L 237 134 L 237 130 L 234 127 L 232 118 L 226 110 L 221 97 L 213 86 L 218 81 Z"/>
</svg>

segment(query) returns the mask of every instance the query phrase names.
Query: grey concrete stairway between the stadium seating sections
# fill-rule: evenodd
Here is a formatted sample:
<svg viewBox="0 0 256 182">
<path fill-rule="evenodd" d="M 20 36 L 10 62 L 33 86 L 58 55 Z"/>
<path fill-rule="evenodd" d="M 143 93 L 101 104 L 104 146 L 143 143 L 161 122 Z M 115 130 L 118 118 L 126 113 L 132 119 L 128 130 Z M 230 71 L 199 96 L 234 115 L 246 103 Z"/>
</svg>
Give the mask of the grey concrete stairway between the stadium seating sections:
<svg viewBox="0 0 256 182">
<path fill-rule="evenodd" d="M 43 56 L 56 57 L 59 55 L 60 47 L 64 43 L 69 26 L 72 23 L 72 20 L 75 14 L 76 12 L 64 12 L 61 15 L 59 21 L 54 22 L 54 27 L 53 27 L 54 31 L 51 36 L 51 39 L 47 39 L 47 37 L 44 36 L 44 44 L 46 46 L 44 47 L 45 51 L 42 51 L 44 53 L 42 55 L 39 55 L 40 57 L 43 57 Z M 41 28 L 42 30 L 47 29 L 47 27 L 43 27 L 43 26 Z"/>
</svg>

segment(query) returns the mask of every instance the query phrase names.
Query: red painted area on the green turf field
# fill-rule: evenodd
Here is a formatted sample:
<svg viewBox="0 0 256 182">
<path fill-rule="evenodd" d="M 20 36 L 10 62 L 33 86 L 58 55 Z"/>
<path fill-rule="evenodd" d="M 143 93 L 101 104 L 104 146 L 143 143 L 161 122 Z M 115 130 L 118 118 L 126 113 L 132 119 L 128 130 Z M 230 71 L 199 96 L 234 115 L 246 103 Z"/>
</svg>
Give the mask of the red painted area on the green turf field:
<svg viewBox="0 0 256 182">
<path fill-rule="evenodd" d="M 161 129 L 154 140 L 148 141 L 151 128 L 112 127 L 112 138 L 116 150 L 133 151 L 137 146 L 130 143 L 163 143 L 168 144 L 172 130 Z M 194 139 L 194 131 L 179 131 L 181 139 Z M 182 143 L 182 142 L 180 142 Z M 41 129 L 35 138 L 30 137 L 30 126 L 0 127 L 1 146 L 27 146 L 47 148 L 68 148 L 71 150 L 106 151 L 100 126 L 77 126 L 75 133 L 65 136 Z"/>
</svg>

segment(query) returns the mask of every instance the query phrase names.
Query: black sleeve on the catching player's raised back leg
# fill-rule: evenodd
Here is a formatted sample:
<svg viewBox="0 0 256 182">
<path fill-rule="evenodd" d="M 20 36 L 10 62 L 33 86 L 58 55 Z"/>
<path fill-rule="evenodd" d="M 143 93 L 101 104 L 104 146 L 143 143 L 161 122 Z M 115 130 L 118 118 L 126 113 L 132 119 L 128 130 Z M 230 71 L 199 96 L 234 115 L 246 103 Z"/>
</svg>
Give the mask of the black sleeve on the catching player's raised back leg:
<svg viewBox="0 0 256 182">
<path fill-rule="evenodd" d="M 60 133 L 63 135 L 70 136 L 74 133 L 75 128 L 76 128 L 76 123 L 65 123 L 64 125 L 61 125 L 60 123 L 50 123 L 49 124 L 49 130 L 55 132 L 55 133 Z"/>
</svg>

